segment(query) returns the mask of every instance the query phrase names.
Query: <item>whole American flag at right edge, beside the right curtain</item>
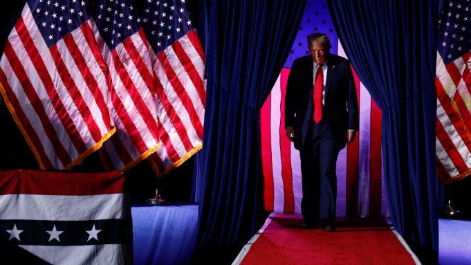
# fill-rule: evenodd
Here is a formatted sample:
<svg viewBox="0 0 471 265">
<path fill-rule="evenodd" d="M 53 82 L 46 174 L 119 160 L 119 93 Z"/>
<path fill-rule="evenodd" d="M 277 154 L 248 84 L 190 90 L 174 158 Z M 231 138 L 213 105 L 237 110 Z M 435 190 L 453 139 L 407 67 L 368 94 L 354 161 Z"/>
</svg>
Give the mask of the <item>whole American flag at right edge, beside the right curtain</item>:
<svg viewBox="0 0 471 265">
<path fill-rule="evenodd" d="M 436 165 L 445 183 L 471 174 L 471 3 L 447 1 L 438 19 Z"/>
</svg>

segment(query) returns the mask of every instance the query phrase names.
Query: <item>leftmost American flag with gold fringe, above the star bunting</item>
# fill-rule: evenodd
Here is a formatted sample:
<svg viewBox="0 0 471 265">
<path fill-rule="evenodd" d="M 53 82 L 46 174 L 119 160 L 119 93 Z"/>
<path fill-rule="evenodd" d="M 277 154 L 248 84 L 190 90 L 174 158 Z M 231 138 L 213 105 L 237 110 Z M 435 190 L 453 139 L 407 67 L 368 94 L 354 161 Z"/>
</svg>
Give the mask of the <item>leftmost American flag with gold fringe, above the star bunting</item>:
<svg viewBox="0 0 471 265">
<path fill-rule="evenodd" d="M 115 131 L 84 1 L 33 1 L 0 61 L 0 91 L 41 169 L 67 169 Z"/>
</svg>

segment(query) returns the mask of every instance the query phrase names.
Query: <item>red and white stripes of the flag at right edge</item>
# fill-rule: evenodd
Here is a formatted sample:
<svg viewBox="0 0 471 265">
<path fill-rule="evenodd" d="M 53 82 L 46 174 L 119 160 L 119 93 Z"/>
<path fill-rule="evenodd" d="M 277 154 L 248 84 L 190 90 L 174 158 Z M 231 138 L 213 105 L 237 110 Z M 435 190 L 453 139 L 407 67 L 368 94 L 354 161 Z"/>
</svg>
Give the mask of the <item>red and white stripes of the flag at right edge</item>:
<svg viewBox="0 0 471 265">
<path fill-rule="evenodd" d="M 444 182 L 471 174 L 471 53 L 445 65 L 436 55 L 436 159 Z"/>
</svg>

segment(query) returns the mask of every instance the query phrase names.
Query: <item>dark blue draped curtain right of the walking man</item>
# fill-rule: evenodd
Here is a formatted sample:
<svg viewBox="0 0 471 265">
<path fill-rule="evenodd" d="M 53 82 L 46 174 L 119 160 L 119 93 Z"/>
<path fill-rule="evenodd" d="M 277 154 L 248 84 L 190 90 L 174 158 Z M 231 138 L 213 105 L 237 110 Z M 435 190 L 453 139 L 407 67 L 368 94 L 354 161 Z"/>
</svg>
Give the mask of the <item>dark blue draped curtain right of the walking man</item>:
<svg viewBox="0 0 471 265">
<path fill-rule="evenodd" d="M 434 80 L 441 3 L 329 0 L 328 4 L 353 68 L 382 109 L 382 155 L 394 227 L 409 243 L 436 255 Z"/>
</svg>

